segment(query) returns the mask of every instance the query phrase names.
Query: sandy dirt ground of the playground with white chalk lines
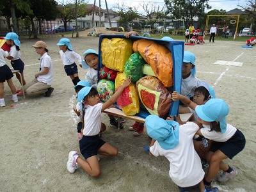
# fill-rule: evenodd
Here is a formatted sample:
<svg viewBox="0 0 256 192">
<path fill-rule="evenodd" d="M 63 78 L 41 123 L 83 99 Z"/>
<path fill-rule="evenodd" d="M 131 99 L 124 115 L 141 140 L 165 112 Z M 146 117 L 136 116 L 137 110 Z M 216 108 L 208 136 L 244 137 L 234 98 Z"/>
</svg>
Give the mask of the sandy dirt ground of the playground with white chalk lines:
<svg viewBox="0 0 256 192">
<path fill-rule="evenodd" d="M 70 38 L 74 51 L 83 55 L 86 49 L 98 50 L 99 38 L 86 36 Z M 76 36 L 76 35 L 74 35 Z M 98 179 L 88 176 L 81 167 L 74 174 L 67 171 L 70 150 L 79 151 L 76 131 L 76 95 L 70 77 L 65 74 L 56 45 L 61 36 L 42 36 L 47 43 L 54 64 L 54 92 L 50 98 L 19 97 L 14 106 L 12 93 L 5 84 L 6 107 L 0 108 L 0 191 L 178 191 L 169 177 L 169 163 L 164 157 L 149 157 L 143 149 L 150 144 L 147 131 L 133 136 L 127 120 L 124 129 L 117 131 L 102 114 L 107 130 L 103 140 L 118 147 L 116 157 L 100 156 L 102 175 Z M 26 64 L 24 75 L 31 81 L 38 71 L 38 54 L 31 45 L 36 40 L 21 38 L 22 60 Z M 227 101 L 230 114 L 228 123 L 239 128 L 246 136 L 246 147 L 234 159 L 226 162 L 236 167 L 238 175 L 213 186 L 220 191 L 255 191 L 255 72 L 256 47 L 244 49 L 243 42 L 216 41 L 204 45 L 185 46 L 185 51 L 196 55 L 196 76 L 211 84 L 216 97 Z M 242 62 L 242 67 L 214 65 L 218 60 Z M 10 62 L 8 61 L 10 66 Z M 79 77 L 86 71 L 79 68 Z M 13 82 L 20 88 L 19 81 Z M 251 114 L 251 115 L 250 115 Z M 220 172 L 221 173 L 221 172 Z"/>
</svg>

